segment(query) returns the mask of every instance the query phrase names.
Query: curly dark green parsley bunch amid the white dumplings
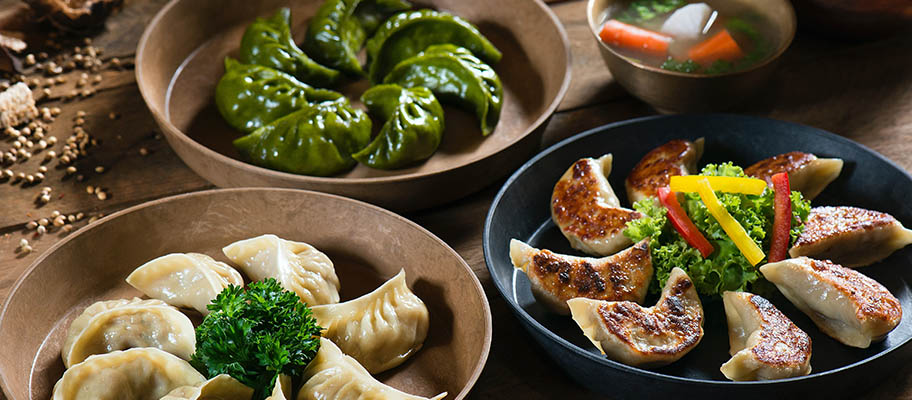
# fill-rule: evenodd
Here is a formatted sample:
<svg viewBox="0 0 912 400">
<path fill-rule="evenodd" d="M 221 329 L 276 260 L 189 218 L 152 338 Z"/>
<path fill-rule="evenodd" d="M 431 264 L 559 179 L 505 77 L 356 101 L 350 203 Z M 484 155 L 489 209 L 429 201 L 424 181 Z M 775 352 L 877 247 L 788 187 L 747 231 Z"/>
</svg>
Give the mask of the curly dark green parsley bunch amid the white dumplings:
<svg viewBox="0 0 912 400">
<path fill-rule="evenodd" d="M 254 399 L 270 394 L 279 373 L 300 376 L 320 348 L 310 309 L 275 279 L 246 291 L 230 285 L 207 308 L 190 363 L 208 378 L 231 375 L 254 389 Z"/>
</svg>

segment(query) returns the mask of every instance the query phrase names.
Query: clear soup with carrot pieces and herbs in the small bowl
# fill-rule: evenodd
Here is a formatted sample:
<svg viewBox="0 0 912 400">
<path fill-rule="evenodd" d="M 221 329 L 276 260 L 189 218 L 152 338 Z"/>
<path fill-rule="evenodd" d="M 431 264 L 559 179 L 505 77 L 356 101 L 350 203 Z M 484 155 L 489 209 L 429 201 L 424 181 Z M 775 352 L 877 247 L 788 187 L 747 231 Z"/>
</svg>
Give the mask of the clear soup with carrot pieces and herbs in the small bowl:
<svg viewBox="0 0 912 400">
<path fill-rule="evenodd" d="M 719 74 L 744 70 L 773 55 L 771 21 L 731 0 L 633 0 L 602 14 L 599 37 L 642 65 Z"/>
</svg>

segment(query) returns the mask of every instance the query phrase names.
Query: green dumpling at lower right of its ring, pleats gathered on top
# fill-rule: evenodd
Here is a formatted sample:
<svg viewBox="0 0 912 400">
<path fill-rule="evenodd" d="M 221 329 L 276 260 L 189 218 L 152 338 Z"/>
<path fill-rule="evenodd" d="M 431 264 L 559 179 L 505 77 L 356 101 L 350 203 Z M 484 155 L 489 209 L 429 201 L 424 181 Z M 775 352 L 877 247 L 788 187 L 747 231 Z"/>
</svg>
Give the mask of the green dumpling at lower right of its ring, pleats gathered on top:
<svg viewBox="0 0 912 400">
<path fill-rule="evenodd" d="M 430 157 L 443 136 L 443 108 L 427 88 L 377 85 L 364 92 L 367 110 L 386 122 L 380 133 L 352 155 L 369 167 L 395 169 Z"/>
</svg>

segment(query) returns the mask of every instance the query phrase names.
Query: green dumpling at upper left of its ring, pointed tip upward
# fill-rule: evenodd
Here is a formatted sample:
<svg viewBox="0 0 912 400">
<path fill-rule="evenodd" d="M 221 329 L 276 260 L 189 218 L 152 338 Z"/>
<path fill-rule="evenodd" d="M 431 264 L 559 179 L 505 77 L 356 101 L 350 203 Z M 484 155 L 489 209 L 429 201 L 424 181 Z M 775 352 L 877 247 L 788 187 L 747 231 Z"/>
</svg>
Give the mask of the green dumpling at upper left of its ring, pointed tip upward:
<svg viewBox="0 0 912 400">
<path fill-rule="evenodd" d="M 241 38 L 241 62 L 284 71 L 314 86 L 332 85 L 339 71 L 318 64 L 298 48 L 290 18 L 291 11 L 281 8 L 269 19 L 257 18 L 250 24 Z"/>
</svg>

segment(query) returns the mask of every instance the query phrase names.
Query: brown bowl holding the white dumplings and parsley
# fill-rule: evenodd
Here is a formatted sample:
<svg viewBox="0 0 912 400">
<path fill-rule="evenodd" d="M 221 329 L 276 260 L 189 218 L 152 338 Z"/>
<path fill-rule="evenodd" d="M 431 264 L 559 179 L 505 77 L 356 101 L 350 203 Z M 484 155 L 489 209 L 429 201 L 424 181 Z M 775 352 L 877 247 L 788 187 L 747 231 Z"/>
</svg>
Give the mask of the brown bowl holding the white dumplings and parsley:
<svg viewBox="0 0 912 400">
<path fill-rule="evenodd" d="M 227 261 L 221 248 L 274 233 L 325 252 L 342 300 L 365 294 L 400 268 L 430 312 L 424 347 L 378 376 L 398 389 L 462 399 L 491 346 L 491 311 L 478 278 L 443 241 L 389 211 L 292 189 L 222 189 L 169 197 L 106 217 L 38 258 L 0 312 L 0 384 L 10 400 L 47 399 L 63 375 L 60 347 L 89 304 L 142 294 L 124 279 L 171 252 Z"/>
</svg>

